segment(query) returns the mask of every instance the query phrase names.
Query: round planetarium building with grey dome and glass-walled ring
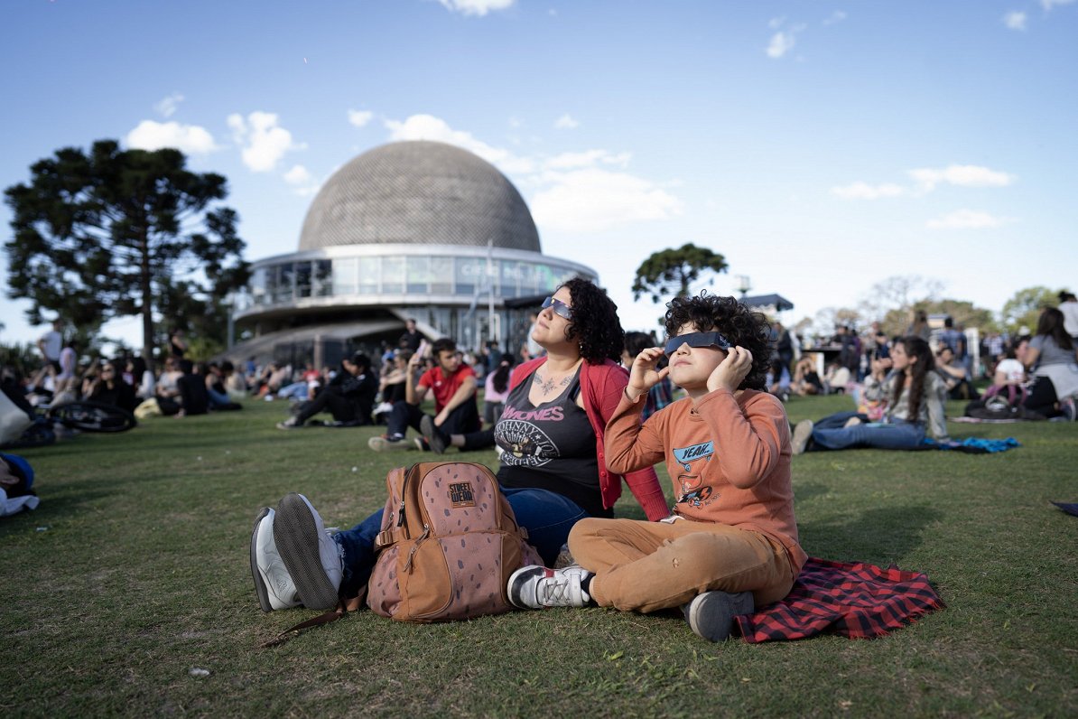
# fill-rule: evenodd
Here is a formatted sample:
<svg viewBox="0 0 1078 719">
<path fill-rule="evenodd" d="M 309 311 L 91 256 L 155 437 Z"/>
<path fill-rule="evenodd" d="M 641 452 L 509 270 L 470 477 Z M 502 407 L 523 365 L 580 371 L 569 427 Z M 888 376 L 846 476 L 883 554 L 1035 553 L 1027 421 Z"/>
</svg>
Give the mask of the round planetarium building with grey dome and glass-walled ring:
<svg viewBox="0 0 1078 719">
<path fill-rule="evenodd" d="M 597 278 L 542 254 L 524 198 L 497 168 L 430 141 L 355 157 L 310 204 L 299 251 L 251 269 L 234 319 L 253 336 L 229 355 L 318 367 L 396 346 L 407 318 L 432 340 L 515 349 L 543 296 Z"/>
</svg>

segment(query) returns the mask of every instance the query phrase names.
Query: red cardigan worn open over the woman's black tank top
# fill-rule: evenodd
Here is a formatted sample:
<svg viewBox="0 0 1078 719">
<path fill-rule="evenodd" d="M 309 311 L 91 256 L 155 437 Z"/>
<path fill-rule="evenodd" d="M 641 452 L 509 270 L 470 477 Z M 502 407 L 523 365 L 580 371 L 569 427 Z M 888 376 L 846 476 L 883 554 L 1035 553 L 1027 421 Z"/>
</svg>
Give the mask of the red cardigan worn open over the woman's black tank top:
<svg viewBox="0 0 1078 719">
<path fill-rule="evenodd" d="M 539 357 L 514 368 L 509 382 L 510 390 L 545 363 L 547 358 Z M 592 429 L 595 430 L 595 454 L 599 460 L 599 495 L 605 509 L 613 507 L 621 496 L 622 475 L 607 469 L 603 439 L 607 420 L 618 409 L 626 385 L 628 385 L 628 372 L 611 360 L 605 360 L 602 364 L 591 364 L 585 361 L 580 365 L 580 388 L 584 396 L 584 412 L 592 424 Z M 658 522 L 669 515 L 669 507 L 666 506 L 666 497 L 663 496 L 663 488 L 654 468 L 648 467 L 630 472 L 624 475 L 624 480 L 649 521 Z"/>
</svg>

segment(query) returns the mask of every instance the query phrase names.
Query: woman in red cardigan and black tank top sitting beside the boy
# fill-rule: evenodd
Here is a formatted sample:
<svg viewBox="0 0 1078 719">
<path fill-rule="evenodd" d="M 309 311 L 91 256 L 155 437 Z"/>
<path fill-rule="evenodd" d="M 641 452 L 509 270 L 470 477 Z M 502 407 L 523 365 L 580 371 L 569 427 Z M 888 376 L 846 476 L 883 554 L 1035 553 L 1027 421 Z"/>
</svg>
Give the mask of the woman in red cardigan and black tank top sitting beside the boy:
<svg viewBox="0 0 1078 719">
<path fill-rule="evenodd" d="M 542 307 L 531 333 L 547 355 L 513 373 L 498 424 L 475 434 L 493 437 L 505 450 L 501 492 L 528 530 L 528 542 L 553 564 L 578 521 L 613 516 L 622 476 L 607 467 L 603 442 L 628 374 L 613 361 L 623 332 L 606 292 L 570 279 Z M 650 466 L 628 472 L 625 482 L 649 520 L 669 513 Z M 330 609 L 338 596 L 359 596 L 374 567 L 382 514 L 379 509 L 330 537 L 303 495 L 287 495 L 276 511 L 263 509 L 251 534 L 251 573 L 262 609 Z"/>
</svg>

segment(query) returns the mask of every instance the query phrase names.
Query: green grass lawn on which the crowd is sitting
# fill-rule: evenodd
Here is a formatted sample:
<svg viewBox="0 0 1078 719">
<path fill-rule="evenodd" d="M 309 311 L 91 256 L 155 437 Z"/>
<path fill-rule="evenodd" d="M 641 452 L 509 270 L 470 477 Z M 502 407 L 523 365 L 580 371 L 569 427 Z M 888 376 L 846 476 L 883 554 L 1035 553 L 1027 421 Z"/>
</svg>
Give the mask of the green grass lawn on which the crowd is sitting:
<svg viewBox="0 0 1078 719">
<path fill-rule="evenodd" d="M 373 428 L 282 432 L 284 414 L 250 401 L 23 451 L 41 506 L 0 520 L 4 716 L 1078 714 L 1078 517 L 1049 503 L 1078 501 L 1074 424 L 951 424 L 1022 442 L 997 456 L 794 458 L 808 554 L 923 571 L 948 604 L 880 639 L 713 645 L 674 614 L 602 609 L 437 625 L 362 611 L 258 649 L 316 613 L 259 609 L 258 510 L 299 490 L 350 526 L 419 457 L 370 452 Z M 625 496 L 619 514 L 642 518 Z"/>
</svg>

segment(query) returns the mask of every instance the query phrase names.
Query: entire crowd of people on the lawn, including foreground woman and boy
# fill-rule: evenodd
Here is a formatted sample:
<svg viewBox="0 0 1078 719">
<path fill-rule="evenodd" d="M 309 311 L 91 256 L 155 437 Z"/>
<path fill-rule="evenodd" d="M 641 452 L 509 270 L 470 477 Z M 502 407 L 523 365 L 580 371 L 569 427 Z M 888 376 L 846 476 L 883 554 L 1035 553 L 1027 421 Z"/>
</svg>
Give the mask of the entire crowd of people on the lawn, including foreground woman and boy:
<svg viewBox="0 0 1078 719">
<path fill-rule="evenodd" d="M 912 450 L 929 434 L 946 442 L 948 399 L 1074 420 L 1076 307 L 1064 293 L 1028 335 L 998 343 L 989 335 L 983 369 L 972 367 L 960 328 L 945 320 L 934 332 L 924 313 L 896 336 L 879 323 L 863 334 L 838 328 L 828 342 L 838 351 L 825 368 L 813 355 L 818 348 L 733 298 L 673 299 L 664 344 L 625 333 L 606 293 L 577 278 L 542 302 L 519 354 L 429 342 L 409 320 L 397 346 L 375 360 L 355 352 L 317 370 L 258 367 L 252 358 L 237 369 L 193 364 L 174 333 L 154 375 L 140 358 L 75 368 L 75 348 L 46 336 L 42 371 L 17 391 L 24 402 L 88 398 L 180 416 L 240 406 L 243 398 L 278 399 L 288 401 L 284 430 L 322 414 L 332 417 L 323 425 L 384 425 L 369 439 L 375 452 L 496 447 L 501 492 L 542 562 L 513 573 L 507 594 L 514 606 L 680 608 L 695 634 L 720 640 L 735 614 L 782 599 L 805 562 L 793 456 Z M 791 427 L 787 402 L 834 392 L 848 395 L 849 411 Z M 673 508 L 655 474 L 660 462 Z M 646 520 L 614 516 L 623 483 Z M 379 510 L 330 534 L 302 494 L 264 508 L 251 536 L 262 609 L 330 609 L 360 596 L 384 521 Z"/>
</svg>

